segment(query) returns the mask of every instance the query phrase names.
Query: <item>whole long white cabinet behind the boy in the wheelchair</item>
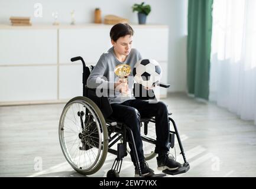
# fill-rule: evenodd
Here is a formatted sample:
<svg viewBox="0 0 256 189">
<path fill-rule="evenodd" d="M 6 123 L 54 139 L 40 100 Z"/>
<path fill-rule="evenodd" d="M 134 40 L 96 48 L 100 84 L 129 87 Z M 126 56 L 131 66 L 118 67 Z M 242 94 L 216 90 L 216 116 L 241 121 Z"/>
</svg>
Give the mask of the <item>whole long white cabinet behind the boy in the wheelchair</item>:
<svg viewBox="0 0 256 189">
<path fill-rule="evenodd" d="M 82 56 L 95 65 L 112 45 L 112 25 L 60 25 L 12 27 L 0 25 L 0 105 L 65 102 L 82 96 L 82 63 L 70 58 Z M 132 25 L 133 48 L 143 58 L 157 60 L 161 82 L 167 82 L 168 27 Z M 155 90 L 161 97 L 166 89 Z"/>
</svg>

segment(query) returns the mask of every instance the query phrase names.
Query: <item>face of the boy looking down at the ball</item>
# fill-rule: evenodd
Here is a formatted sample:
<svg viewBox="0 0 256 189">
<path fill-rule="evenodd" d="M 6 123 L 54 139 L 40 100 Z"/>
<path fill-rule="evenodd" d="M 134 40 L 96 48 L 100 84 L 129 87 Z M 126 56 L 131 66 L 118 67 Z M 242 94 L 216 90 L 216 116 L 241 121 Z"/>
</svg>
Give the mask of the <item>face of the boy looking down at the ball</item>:
<svg viewBox="0 0 256 189">
<path fill-rule="evenodd" d="M 111 40 L 111 43 L 118 54 L 128 56 L 132 48 L 132 35 L 119 37 L 116 41 Z"/>
</svg>

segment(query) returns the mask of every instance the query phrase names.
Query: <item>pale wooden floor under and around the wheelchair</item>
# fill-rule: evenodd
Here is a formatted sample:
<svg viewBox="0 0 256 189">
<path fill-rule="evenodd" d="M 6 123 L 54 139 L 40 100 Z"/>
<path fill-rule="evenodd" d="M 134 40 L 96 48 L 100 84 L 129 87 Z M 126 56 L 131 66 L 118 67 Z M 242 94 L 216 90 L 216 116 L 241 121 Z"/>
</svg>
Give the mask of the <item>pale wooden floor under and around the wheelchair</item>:
<svg viewBox="0 0 256 189">
<path fill-rule="evenodd" d="M 190 170 L 168 177 L 255 177 L 256 126 L 213 103 L 186 94 L 163 99 L 173 113 Z M 0 107 L 0 177 L 85 177 L 67 164 L 58 136 L 64 104 Z M 177 153 L 179 150 L 176 149 Z M 106 177 L 114 155 L 89 177 Z M 182 158 L 177 157 L 182 162 Z M 40 170 L 39 163 L 42 163 Z M 156 172 L 156 159 L 148 164 Z M 124 158 L 121 177 L 134 177 L 134 166 Z"/>
</svg>

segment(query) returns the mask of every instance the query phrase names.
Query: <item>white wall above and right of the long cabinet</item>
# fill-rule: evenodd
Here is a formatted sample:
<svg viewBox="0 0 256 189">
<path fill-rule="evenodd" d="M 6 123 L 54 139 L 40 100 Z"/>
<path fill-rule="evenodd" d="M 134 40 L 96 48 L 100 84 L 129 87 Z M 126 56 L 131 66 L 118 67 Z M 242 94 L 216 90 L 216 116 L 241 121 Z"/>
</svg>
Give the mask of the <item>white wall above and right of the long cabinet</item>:
<svg viewBox="0 0 256 189">
<path fill-rule="evenodd" d="M 102 18 L 114 14 L 128 18 L 131 23 L 138 23 L 137 14 L 131 6 L 140 1 L 128 0 L 0 0 L 0 23 L 8 24 L 9 17 L 31 17 L 33 24 L 49 24 L 53 22 L 52 12 L 58 12 L 58 21 L 70 23 L 70 12 L 75 11 L 76 23 L 93 22 L 94 9 L 101 8 Z M 186 91 L 186 35 L 187 35 L 187 0 L 145 0 L 151 5 L 148 24 L 166 24 L 170 28 L 168 83 L 170 92 Z M 34 5 L 41 3 L 43 17 L 34 17 Z M 136 35 L 136 31 L 135 31 Z M 155 45 L 155 44 L 152 44 Z M 161 44 L 160 44 L 161 45 Z M 161 47 L 160 47 L 161 49 Z"/>
</svg>

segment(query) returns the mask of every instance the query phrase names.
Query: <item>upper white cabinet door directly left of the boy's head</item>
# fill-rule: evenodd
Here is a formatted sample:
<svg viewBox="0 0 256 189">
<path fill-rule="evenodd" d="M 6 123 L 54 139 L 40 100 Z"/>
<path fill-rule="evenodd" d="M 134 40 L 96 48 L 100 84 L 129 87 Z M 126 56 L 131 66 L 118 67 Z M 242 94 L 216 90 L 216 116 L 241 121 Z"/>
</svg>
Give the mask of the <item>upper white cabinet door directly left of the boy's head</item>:
<svg viewBox="0 0 256 189">
<path fill-rule="evenodd" d="M 60 63 L 70 63 L 70 58 L 81 56 L 86 64 L 96 64 L 102 53 L 112 47 L 110 29 L 110 26 L 100 29 L 60 29 Z"/>
</svg>

